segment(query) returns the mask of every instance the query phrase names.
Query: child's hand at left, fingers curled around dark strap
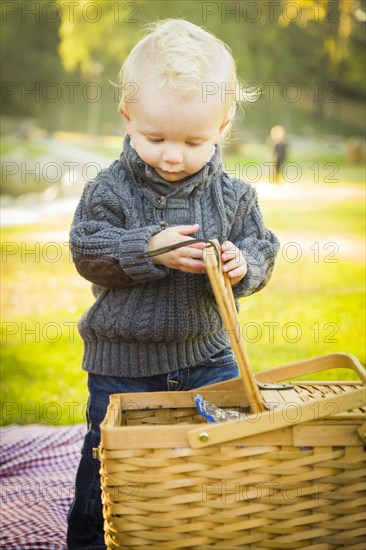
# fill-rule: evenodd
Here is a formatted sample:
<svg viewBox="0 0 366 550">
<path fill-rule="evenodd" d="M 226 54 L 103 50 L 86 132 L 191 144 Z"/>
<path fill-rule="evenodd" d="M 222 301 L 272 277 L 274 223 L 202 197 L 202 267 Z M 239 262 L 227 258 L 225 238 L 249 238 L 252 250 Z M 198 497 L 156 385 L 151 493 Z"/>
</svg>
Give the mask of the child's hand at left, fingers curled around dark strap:
<svg viewBox="0 0 366 550">
<path fill-rule="evenodd" d="M 148 244 L 148 250 L 170 246 L 182 241 L 193 240 L 193 237 L 188 237 L 196 233 L 199 229 L 198 223 L 193 225 L 176 225 L 168 227 L 160 233 L 153 235 Z M 186 273 L 205 273 L 206 266 L 203 263 L 203 249 L 205 243 L 195 243 L 191 246 L 183 246 L 165 254 L 153 257 L 155 265 L 165 265 L 171 269 L 179 269 Z"/>
</svg>

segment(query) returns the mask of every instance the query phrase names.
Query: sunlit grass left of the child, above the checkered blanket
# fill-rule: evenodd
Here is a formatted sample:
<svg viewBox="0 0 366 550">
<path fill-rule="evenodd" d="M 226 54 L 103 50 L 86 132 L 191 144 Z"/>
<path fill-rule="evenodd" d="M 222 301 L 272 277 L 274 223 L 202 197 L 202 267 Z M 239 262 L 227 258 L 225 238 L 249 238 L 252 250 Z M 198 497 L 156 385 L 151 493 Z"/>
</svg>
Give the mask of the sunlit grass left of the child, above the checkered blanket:
<svg viewBox="0 0 366 550">
<path fill-rule="evenodd" d="M 2 232 L 3 423 L 84 419 L 86 375 L 76 324 L 93 298 L 62 244 L 69 224 L 63 219 Z M 60 230 L 65 239 L 49 244 Z"/>
</svg>

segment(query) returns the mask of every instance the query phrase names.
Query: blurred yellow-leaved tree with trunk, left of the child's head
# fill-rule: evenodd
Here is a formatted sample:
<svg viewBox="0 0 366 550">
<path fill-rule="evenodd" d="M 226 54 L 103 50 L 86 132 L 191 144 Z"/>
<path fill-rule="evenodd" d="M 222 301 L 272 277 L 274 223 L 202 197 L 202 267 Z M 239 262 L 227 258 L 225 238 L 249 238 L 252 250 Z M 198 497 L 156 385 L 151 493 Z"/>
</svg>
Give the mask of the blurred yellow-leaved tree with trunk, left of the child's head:
<svg viewBox="0 0 366 550">
<path fill-rule="evenodd" d="M 128 50 L 135 41 L 139 20 L 135 2 L 88 2 L 76 4 L 58 0 L 61 10 L 59 55 L 66 71 L 81 71 L 81 79 L 100 90 L 98 101 L 87 103 L 84 130 L 98 134 L 101 130 L 101 98 L 117 103 L 117 74 Z M 127 8 L 127 9 L 126 9 Z M 87 86 L 87 84 L 86 84 Z M 110 93 L 112 91 L 112 94 Z M 109 94 L 108 94 L 109 92 Z M 112 101 L 108 107 L 112 106 Z M 111 125 L 113 131 L 113 124 Z"/>
</svg>

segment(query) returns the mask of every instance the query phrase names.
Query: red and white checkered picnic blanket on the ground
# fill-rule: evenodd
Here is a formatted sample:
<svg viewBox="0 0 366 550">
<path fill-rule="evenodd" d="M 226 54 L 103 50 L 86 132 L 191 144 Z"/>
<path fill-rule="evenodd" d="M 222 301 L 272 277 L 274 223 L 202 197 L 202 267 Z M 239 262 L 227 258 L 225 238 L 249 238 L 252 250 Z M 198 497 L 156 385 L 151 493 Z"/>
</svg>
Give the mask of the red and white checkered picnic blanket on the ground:
<svg viewBox="0 0 366 550">
<path fill-rule="evenodd" d="M 2 428 L 0 548 L 64 550 L 85 425 Z"/>
</svg>

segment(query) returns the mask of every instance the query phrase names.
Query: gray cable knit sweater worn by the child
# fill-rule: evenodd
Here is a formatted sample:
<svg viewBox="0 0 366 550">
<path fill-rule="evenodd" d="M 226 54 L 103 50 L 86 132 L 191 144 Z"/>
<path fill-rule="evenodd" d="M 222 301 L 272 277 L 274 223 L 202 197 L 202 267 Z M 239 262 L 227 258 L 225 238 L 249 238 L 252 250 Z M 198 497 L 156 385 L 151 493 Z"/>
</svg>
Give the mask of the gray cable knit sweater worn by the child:
<svg viewBox="0 0 366 550">
<path fill-rule="evenodd" d="M 153 376 L 194 366 L 228 345 L 206 275 L 136 258 L 167 225 L 193 223 L 200 226 L 195 238 L 230 240 L 243 251 L 248 272 L 236 297 L 267 283 L 278 241 L 263 224 L 255 190 L 222 170 L 219 147 L 174 187 L 126 136 L 119 160 L 86 185 L 71 228 L 73 260 L 96 297 L 79 322 L 83 369 Z"/>
</svg>

